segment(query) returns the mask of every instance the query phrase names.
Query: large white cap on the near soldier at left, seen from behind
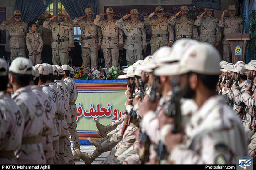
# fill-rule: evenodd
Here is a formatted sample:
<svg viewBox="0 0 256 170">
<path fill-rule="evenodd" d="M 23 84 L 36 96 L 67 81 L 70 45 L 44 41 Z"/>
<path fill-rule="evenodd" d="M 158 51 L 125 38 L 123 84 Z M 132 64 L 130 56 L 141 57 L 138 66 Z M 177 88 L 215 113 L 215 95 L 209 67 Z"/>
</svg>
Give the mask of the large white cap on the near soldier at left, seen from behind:
<svg viewBox="0 0 256 170">
<path fill-rule="evenodd" d="M 11 62 L 9 71 L 21 75 L 32 75 L 32 67 L 31 60 L 25 57 L 17 57 Z"/>
</svg>

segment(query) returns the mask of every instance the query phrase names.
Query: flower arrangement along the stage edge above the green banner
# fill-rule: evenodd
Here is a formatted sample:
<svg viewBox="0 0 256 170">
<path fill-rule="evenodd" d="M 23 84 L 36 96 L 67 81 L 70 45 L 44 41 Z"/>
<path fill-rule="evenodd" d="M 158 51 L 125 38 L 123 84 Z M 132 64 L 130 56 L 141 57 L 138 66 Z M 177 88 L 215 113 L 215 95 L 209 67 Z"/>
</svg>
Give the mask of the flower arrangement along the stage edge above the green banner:
<svg viewBox="0 0 256 170">
<path fill-rule="evenodd" d="M 96 67 L 91 69 L 90 73 L 84 73 L 83 65 L 81 67 L 75 67 L 74 69 L 74 79 L 77 80 L 119 80 L 117 77 L 120 74 L 120 70 L 117 67 L 112 66 L 111 68 L 101 68 Z"/>
</svg>

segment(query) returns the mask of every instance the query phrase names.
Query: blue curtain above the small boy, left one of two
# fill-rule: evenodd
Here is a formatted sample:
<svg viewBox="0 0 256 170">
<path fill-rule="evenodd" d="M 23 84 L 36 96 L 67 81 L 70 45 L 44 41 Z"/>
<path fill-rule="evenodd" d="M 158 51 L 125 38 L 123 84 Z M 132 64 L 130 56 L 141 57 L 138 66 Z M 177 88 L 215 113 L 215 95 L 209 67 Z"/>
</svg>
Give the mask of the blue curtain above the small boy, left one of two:
<svg viewBox="0 0 256 170">
<path fill-rule="evenodd" d="M 30 21 L 37 21 L 40 15 L 43 15 L 46 8 L 53 2 L 53 0 L 16 0 L 14 10 L 21 11 L 21 21 L 29 23 Z"/>
</svg>

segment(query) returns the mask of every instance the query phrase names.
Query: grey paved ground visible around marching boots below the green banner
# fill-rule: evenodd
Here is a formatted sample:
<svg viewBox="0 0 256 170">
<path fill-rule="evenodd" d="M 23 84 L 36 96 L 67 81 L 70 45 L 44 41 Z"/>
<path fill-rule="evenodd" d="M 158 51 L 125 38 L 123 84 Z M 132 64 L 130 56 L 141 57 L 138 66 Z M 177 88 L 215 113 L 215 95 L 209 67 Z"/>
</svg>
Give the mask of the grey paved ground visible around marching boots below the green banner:
<svg viewBox="0 0 256 170">
<path fill-rule="evenodd" d="M 82 152 L 87 152 L 87 153 L 90 153 L 95 150 L 94 145 L 81 145 L 80 148 L 81 148 Z M 105 158 L 107 157 L 107 155 L 109 153 L 110 153 L 110 151 L 102 153 L 91 164 L 102 164 L 102 162 L 105 160 Z M 75 164 L 85 164 L 85 162 L 83 160 L 80 160 L 80 161 L 75 161 Z"/>
</svg>

